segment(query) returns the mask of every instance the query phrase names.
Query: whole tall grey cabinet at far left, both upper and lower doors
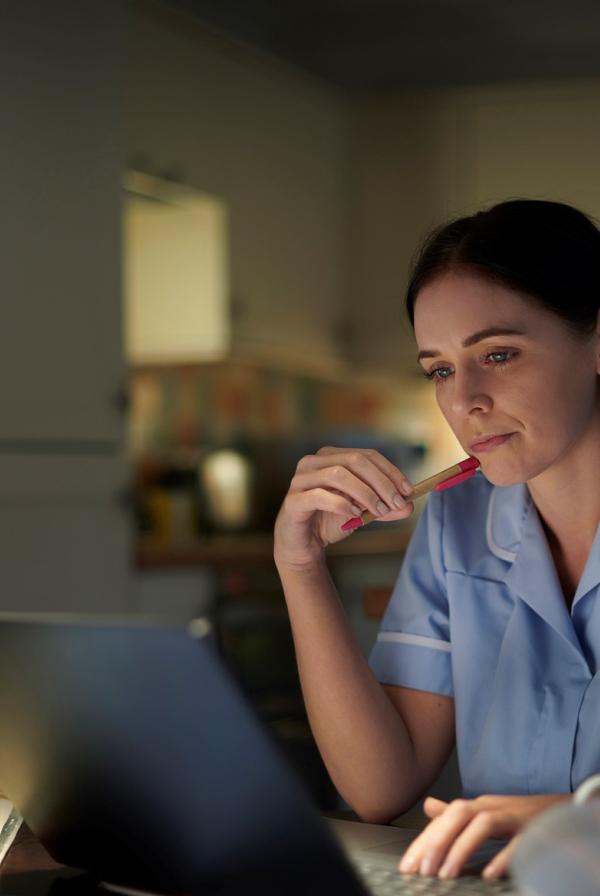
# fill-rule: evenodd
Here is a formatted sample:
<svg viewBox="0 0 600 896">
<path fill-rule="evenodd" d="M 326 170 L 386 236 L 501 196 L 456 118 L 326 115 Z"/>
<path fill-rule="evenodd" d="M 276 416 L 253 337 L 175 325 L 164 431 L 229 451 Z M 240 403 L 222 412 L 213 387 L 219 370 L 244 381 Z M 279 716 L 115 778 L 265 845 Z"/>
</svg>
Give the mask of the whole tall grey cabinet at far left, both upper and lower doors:
<svg viewBox="0 0 600 896">
<path fill-rule="evenodd" d="M 129 607 L 123 26 L 120 0 L 0 11 L 3 610 Z"/>
</svg>

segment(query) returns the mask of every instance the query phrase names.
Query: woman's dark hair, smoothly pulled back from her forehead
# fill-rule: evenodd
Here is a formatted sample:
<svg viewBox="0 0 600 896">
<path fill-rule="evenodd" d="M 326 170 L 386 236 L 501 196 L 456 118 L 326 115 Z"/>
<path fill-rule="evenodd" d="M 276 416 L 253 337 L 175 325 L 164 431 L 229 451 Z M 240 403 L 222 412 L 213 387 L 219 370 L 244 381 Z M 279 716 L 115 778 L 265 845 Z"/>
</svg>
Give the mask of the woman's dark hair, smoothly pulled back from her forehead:
<svg viewBox="0 0 600 896">
<path fill-rule="evenodd" d="M 593 332 L 600 306 L 600 231 L 573 206 L 512 199 L 436 229 L 414 264 L 406 308 L 414 324 L 419 291 L 468 268 L 526 293 L 580 334 Z"/>
</svg>

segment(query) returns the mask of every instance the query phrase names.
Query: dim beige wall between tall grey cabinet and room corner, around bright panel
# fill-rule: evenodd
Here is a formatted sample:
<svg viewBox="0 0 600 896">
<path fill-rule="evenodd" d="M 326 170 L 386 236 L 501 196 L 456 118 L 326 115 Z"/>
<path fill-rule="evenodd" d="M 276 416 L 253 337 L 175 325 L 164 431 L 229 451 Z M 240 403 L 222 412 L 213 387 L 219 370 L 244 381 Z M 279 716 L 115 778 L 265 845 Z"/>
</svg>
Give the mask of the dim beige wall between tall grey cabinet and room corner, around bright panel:
<svg viewBox="0 0 600 896">
<path fill-rule="evenodd" d="M 131 16 L 128 161 L 227 203 L 238 353 L 334 358 L 346 289 L 344 98 L 150 0 Z"/>
</svg>

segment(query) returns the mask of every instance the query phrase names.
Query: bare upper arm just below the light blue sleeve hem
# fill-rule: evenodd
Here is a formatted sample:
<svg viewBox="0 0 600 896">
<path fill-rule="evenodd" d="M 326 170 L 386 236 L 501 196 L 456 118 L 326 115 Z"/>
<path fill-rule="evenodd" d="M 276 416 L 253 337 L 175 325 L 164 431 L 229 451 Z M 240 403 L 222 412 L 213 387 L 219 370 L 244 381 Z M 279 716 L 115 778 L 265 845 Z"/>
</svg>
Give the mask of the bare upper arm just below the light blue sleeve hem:
<svg viewBox="0 0 600 896">
<path fill-rule="evenodd" d="M 425 792 L 442 771 L 455 743 L 454 699 L 397 685 L 383 685 L 410 737 L 419 789 Z"/>
</svg>

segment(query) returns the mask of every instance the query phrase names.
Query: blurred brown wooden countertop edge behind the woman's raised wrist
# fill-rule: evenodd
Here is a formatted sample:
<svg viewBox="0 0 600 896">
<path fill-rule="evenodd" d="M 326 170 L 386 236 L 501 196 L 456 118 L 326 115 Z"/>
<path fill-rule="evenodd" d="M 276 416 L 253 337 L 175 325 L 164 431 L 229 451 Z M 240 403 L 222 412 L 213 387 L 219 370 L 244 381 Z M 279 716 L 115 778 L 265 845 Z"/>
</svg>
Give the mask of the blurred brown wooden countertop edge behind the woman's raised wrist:
<svg viewBox="0 0 600 896">
<path fill-rule="evenodd" d="M 360 557 L 401 554 L 406 550 L 412 529 L 389 527 L 356 532 L 327 549 L 327 555 Z M 138 569 L 193 566 L 228 566 L 232 563 L 269 563 L 273 559 L 273 535 L 270 532 L 243 535 L 213 535 L 186 544 L 160 544 L 142 541 L 135 550 Z"/>
</svg>

